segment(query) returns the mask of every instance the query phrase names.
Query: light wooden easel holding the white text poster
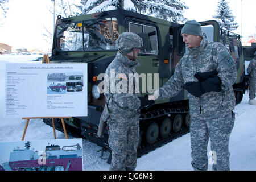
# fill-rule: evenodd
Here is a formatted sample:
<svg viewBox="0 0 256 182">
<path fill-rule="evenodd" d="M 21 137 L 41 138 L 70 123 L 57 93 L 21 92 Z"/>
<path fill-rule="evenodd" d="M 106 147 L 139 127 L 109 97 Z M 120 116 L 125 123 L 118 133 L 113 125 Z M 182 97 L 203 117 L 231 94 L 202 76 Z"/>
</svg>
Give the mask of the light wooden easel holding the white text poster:
<svg viewBox="0 0 256 182">
<path fill-rule="evenodd" d="M 48 55 L 44 55 L 42 63 L 50 63 Z M 22 141 L 24 140 L 24 137 L 25 137 L 25 134 L 26 134 L 26 131 L 27 131 L 27 126 L 28 126 L 28 123 L 30 122 L 30 119 L 46 119 L 46 118 L 52 118 L 52 128 L 53 128 L 54 139 L 56 139 L 54 118 L 61 119 L 61 123 L 62 123 L 64 134 L 65 134 L 65 138 L 68 139 L 64 118 L 72 118 L 72 117 L 29 117 L 29 118 L 22 118 L 22 119 L 27 119 L 24 131 L 23 131 L 23 135 L 22 135 Z"/>
</svg>

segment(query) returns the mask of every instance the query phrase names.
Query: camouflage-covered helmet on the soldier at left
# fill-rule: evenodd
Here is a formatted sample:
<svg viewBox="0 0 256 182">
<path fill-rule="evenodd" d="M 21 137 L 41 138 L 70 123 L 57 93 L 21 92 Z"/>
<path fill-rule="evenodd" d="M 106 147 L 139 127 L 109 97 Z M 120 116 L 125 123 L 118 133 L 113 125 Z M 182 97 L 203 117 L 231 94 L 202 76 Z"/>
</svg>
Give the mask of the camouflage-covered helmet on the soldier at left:
<svg viewBox="0 0 256 182">
<path fill-rule="evenodd" d="M 122 52 L 129 53 L 133 51 L 133 48 L 141 48 L 143 42 L 139 35 L 133 32 L 123 32 L 117 39 L 117 46 Z"/>
</svg>

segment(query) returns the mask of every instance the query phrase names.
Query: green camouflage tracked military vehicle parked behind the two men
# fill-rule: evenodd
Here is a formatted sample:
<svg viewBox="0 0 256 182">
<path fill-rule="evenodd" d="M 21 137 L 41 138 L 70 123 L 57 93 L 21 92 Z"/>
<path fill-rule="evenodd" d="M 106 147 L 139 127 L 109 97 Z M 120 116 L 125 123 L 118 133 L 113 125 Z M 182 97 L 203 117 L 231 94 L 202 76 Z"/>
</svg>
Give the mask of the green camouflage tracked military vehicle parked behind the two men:
<svg viewBox="0 0 256 182">
<path fill-rule="evenodd" d="M 233 85 L 237 103 L 241 102 L 244 86 L 244 64 L 240 36 L 220 30 L 216 21 L 201 22 L 209 41 L 221 42 L 232 53 L 237 65 L 237 80 Z M 147 77 L 147 93 L 160 88 L 174 74 L 175 66 L 186 51 L 180 35 L 183 25 L 122 9 L 101 13 L 58 17 L 53 38 L 51 63 L 88 64 L 88 117 L 65 119 L 69 134 L 83 137 L 110 150 L 108 132 L 97 137 L 100 116 L 105 105 L 104 94 L 98 89 L 97 79 L 117 53 L 119 34 L 125 31 L 147 35 L 147 48 L 138 56 L 137 72 Z M 157 75 L 158 77 L 155 77 Z M 148 82 L 150 82 L 148 84 Z M 142 82 L 140 82 L 142 88 Z M 187 92 L 173 98 L 156 101 L 150 109 L 141 110 L 138 156 L 189 132 Z M 51 121 L 44 120 L 51 125 Z M 55 127 L 58 126 L 56 121 Z M 59 125 L 62 129 L 61 124 Z"/>
</svg>

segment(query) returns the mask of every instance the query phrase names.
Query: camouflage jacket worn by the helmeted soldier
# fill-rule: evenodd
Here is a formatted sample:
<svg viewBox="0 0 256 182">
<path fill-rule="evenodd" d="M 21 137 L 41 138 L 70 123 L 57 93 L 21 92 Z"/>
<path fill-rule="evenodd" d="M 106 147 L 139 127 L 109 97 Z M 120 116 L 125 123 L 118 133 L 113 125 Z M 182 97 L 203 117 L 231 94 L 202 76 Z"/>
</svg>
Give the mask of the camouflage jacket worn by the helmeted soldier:
<svg viewBox="0 0 256 182">
<path fill-rule="evenodd" d="M 108 106 L 109 112 L 108 121 L 128 122 L 133 119 L 139 119 L 141 101 L 138 98 L 140 94 L 135 93 L 135 79 L 129 85 L 129 74 L 137 73 L 135 68 L 138 66 L 138 61 L 131 61 L 118 52 L 115 59 L 106 69 L 105 73 L 109 77 L 109 88 L 107 92 L 104 92 L 104 95 L 106 97 L 105 107 Z M 115 88 L 113 88 L 113 85 Z"/>
</svg>

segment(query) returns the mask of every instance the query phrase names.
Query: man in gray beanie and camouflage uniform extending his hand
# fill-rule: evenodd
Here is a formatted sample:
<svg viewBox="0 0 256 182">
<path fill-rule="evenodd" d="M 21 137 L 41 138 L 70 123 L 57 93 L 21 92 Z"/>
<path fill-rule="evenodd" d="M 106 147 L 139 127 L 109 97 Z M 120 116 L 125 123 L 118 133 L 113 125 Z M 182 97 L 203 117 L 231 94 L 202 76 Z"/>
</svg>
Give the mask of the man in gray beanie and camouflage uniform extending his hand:
<svg viewBox="0 0 256 182">
<path fill-rule="evenodd" d="M 208 42 L 195 20 L 185 23 L 181 35 L 188 51 L 176 65 L 174 75 L 148 99 L 174 97 L 183 88 L 187 90 L 193 169 L 208 169 L 210 137 L 213 170 L 229 170 L 229 136 L 234 125 L 232 110 L 235 106 L 232 85 L 237 77 L 236 65 L 221 43 Z"/>
</svg>

